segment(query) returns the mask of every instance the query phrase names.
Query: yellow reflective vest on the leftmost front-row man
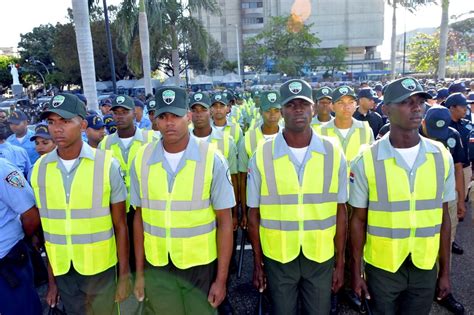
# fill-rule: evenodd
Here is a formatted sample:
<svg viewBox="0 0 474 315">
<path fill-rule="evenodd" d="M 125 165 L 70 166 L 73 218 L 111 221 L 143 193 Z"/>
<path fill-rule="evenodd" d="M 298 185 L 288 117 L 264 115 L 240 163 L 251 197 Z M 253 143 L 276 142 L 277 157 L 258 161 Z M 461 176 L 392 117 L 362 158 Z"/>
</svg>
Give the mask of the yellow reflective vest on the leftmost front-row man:
<svg viewBox="0 0 474 315">
<path fill-rule="evenodd" d="M 58 162 L 46 162 L 46 155 L 33 168 L 31 186 L 55 276 L 66 274 L 71 263 L 82 275 L 98 274 L 117 264 L 109 205 L 112 153 L 93 150 L 94 160 L 80 160 L 69 202 Z"/>
</svg>

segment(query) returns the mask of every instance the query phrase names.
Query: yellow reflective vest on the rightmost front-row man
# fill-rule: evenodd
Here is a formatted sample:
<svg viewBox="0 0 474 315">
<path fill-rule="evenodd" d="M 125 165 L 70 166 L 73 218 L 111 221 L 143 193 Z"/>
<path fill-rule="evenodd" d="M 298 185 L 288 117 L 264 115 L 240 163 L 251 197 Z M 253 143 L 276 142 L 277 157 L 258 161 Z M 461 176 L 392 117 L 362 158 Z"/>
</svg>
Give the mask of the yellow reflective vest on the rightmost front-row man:
<svg viewBox="0 0 474 315">
<path fill-rule="evenodd" d="M 377 158 L 379 143 L 361 156 L 369 188 L 364 259 L 389 272 L 396 272 L 410 254 L 413 264 L 426 270 L 438 256 L 449 152 L 441 143 L 425 141 L 439 152 L 426 153 L 426 161 L 416 169 L 413 192 L 407 171 L 395 158 Z"/>
</svg>

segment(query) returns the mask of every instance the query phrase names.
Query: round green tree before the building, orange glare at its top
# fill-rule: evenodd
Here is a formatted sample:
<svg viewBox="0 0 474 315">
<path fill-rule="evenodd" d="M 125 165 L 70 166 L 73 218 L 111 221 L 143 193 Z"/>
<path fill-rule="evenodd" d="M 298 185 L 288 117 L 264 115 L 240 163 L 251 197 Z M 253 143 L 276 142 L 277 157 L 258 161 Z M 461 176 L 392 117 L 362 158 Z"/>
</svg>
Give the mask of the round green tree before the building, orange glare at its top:
<svg viewBox="0 0 474 315">
<path fill-rule="evenodd" d="M 244 63 L 255 71 L 266 69 L 274 62 L 271 72 L 289 76 L 302 74 L 305 67 L 313 68 L 318 58 L 321 40 L 294 16 L 272 17 L 265 28 L 245 43 Z"/>
</svg>

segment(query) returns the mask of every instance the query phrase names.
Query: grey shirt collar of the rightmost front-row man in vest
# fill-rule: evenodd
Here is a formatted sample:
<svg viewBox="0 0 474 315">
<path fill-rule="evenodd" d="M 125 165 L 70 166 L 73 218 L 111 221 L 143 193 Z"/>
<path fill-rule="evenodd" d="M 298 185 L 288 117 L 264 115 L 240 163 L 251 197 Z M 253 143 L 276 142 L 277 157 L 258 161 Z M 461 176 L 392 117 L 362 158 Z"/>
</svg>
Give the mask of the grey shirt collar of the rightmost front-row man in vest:
<svg viewBox="0 0 474 315">
<path fill-rule="evenodd" d="M 377 160 L 387 160 L 391 158 L 395 158 L 395 161 L 398 166 L 404 167 L 406 163 L 404 163 L 403 158 L 400 154 L 398 154 L 395 148 L 390 143 L 389 139 L 390 133 L 387 133 L 383 136 L 380 140 L 378 140 L 378 150 L 377 150 Z M 419 165 L 423 164 L 426 161 L 426 153 L 440 153 L 439 148 L 429 142 L 423 136 L 420 136 L 420 151 L 418 152 L 418 157 L 415 160 L 415 164 L 413 165 L 413 169 L 416 169 Z M 404 167 L 405 168 L 405 167 Z"/>
</svg>

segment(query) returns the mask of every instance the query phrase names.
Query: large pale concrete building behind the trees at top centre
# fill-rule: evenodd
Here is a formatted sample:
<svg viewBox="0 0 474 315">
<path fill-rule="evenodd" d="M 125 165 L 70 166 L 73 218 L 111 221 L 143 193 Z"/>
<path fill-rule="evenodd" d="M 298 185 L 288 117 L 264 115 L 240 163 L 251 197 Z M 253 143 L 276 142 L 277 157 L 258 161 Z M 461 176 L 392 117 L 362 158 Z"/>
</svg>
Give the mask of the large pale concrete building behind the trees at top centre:
<svg viewBox="0 0 474 315">
<path fill-rule="evenodd" d="M 320 48 L 344 45 L 348 62 L 365 63 L 367 70 L 372 61 L 380 60 L 376 47 L 383 41 L 384 0 L 219 0 L 219 4 L 221 16 L 193 14 L 221 44 L 227 60 L 237 60 L 237 41 L 242 51 L 245 40 L 258 34 L 272 16 L 292 12 L 313 24 Z"/>
</svg>

